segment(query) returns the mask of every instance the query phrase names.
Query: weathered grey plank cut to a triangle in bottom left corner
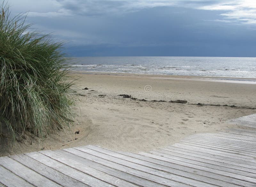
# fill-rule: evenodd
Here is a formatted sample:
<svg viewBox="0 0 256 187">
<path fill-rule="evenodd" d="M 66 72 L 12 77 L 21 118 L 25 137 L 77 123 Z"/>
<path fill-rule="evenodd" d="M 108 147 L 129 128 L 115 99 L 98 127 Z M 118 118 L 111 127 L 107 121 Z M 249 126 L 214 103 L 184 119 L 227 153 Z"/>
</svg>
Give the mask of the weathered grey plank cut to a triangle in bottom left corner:
<svg viewBox="0 0 256 187">
<path fill-rule="evenodd" d="M 32 187 L 33 186 L 32 184 L 25 181 L 23 178 L 20 178 L 19 176 L 3 168 L 2 166 L 0 166 L 0 183 L 2 183 L 5 186 L 14 186 L 14 187 L 20 187 L 20 186 Z"/>
</svg>

